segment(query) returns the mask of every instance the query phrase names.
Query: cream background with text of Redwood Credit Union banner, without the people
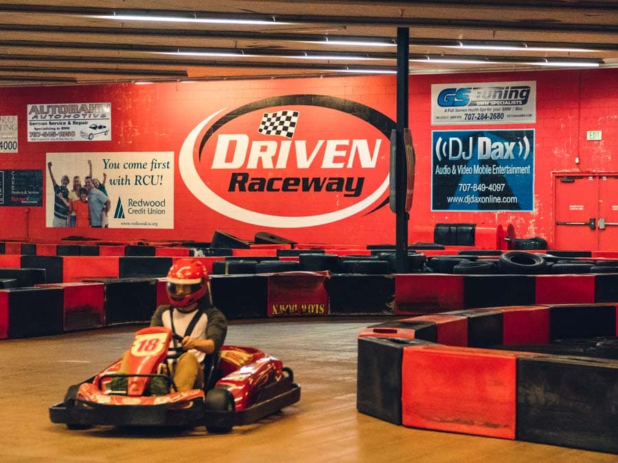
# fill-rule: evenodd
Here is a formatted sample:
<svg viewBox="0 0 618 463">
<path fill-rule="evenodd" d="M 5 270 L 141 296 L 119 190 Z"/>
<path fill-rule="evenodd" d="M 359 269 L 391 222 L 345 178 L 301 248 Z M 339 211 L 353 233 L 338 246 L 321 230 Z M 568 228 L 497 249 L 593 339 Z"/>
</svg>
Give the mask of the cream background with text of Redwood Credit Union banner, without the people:
<svg viewBox="0 0 618 463">
<path fill-rule="evenodd" d="M 91 161 L 92 171 L 88 161 Z M 47 153 L 58 185 L 92 175 L 110 200 L 108 228 L 174 228 L 174 152 Z M 54 185 L 47 176 L 45 222 L 54 220 Z"/>
</svg>

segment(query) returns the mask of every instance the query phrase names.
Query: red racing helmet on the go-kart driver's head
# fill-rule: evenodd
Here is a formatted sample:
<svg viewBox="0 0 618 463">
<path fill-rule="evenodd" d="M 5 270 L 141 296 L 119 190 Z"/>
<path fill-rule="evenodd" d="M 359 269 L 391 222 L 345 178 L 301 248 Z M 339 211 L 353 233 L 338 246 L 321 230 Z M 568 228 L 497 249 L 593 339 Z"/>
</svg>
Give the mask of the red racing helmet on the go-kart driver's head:
<svg viewBox="0 0 618 463">
<path fill-rule="evenodd" d="M 208 290 L 208 272 L 197 259 L 178 259 L 168 272 L 165 289 L 174 307 L 197 302 Z"/>
</svg>

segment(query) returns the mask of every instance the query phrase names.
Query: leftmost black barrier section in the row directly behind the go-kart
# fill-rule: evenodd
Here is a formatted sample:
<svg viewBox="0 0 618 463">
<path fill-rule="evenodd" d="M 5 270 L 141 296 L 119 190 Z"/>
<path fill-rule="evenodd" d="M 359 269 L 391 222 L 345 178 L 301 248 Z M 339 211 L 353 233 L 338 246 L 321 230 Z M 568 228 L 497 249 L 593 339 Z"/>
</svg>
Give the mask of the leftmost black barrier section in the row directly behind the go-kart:
<svg viewBox="0 0 618 463">
<path fill-rule="evenodd" d="M 62 333 L 62 288 L 15 288 L 8 291 L 8 337 Z"/>
</svg>

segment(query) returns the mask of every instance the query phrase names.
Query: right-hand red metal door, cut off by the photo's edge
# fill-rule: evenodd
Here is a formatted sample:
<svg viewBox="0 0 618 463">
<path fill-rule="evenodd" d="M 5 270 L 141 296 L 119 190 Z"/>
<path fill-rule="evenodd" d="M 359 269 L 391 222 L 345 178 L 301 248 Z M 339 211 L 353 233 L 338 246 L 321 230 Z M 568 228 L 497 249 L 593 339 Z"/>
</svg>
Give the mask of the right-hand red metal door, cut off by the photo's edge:
<svg viewBox="0 0 618 463">
<path fill-rule="evenodd" d="M 599 177 L 599 250 L 618 250 L 618 176 Z"/>
</svg>

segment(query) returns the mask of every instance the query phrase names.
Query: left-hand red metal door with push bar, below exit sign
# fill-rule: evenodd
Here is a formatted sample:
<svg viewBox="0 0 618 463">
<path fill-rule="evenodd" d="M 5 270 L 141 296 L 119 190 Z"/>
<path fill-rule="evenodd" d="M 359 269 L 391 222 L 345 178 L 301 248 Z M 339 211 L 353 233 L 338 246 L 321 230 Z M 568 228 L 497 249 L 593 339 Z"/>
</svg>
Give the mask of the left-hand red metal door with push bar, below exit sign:
<svg viewBox="0 0 618 463">
<path fill-rule="evenodd" d="M 554 248 L 597 250 L 599 181 L 596 176 L 556 176 Z"/>
</svg>

